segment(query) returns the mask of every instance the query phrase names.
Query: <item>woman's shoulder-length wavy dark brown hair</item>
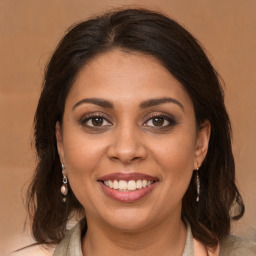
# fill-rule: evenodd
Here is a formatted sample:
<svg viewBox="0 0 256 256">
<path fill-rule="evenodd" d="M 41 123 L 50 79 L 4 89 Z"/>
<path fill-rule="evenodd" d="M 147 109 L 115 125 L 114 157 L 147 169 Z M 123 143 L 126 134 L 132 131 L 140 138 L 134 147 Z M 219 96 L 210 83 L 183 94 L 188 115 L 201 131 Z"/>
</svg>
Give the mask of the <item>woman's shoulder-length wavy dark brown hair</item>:
<svg viewBox="0 0 256 256">
<path fill-rule="evenodd" d="M 183 198 L 182 218 L 189 221 L 196 239 L 215 248 L 229 234 L 231 220 L 244 213 L 235 184 L 231 126 L 220 78 L 188 31 L 145 9 L 115 10 L 73 26 L 50 59 L 34 119 L 38 164 L 27 193 L 34 238 L 38 243 L 59 243 L 70 216 L 84 214 L 71 188 L 66 203 L 62 202 L 55 124 L 62 121 L 65 99 L 81 68 L 115 48 L 158 59 L 190 95 L 198 127 L 205 120 L 211 123 L 209 149 L 199 171 L 200 202 L 195 200 L 193 175 Z"/>
</svg>

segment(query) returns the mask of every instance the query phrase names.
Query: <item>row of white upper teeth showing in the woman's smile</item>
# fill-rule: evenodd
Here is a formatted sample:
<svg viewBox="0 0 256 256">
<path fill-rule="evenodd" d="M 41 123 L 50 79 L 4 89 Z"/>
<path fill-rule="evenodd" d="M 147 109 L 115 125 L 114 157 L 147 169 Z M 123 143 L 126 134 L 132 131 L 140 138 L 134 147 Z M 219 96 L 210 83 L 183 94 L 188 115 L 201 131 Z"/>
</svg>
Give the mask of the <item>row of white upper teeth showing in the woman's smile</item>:
<svg viewBox="0 0 256 256">
<path fill-rule="evenodd" d="M 104 184 L 107 187 L 120 190 L 120 191 L 134 191 L 136 189 L 142 189 L 145 187 L 150 186 L 153 183 L 153 181 L 150 180 L 105 180 Z"/>
</svg>

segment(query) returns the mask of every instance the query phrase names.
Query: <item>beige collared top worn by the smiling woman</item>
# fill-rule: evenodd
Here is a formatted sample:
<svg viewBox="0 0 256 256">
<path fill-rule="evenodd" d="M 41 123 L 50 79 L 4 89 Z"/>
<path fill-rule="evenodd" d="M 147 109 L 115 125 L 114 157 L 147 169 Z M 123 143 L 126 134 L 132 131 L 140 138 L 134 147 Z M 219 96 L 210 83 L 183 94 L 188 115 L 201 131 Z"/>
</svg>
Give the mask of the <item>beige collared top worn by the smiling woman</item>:
<svg viewBox="0 0 256 256">
<path fill-rule="evenodd" d="M 83 221 L 80 221 L 67 233 L 57 246 L 53 256 L 83 256 L 81 246 L 83 223 Z M 194 244 L 197 246 L 196 254 L 194 253 Z M 199 244 L 197 240 L 193 239 L 191 228 L 188 224 L 186 244 L 182 256 L 256 256 L 256 242 L 237 236 L 228 236 L 224 239 L 220 244 L 220 250 L 218 249 L 215 253 L 200 249 L 200 246 L 198 247 Z"/>
</svg>

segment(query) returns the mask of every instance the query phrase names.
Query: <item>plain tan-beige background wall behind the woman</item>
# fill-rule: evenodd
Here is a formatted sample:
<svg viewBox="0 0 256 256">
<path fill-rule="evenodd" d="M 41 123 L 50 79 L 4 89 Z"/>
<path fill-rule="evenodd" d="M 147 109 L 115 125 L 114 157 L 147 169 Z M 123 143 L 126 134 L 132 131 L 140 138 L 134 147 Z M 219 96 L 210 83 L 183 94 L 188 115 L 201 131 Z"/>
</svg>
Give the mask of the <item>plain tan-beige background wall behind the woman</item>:
<svg viewBox="0 0 256 256">
<path fill-rule="evenodd" d="M 255 0 L 0 0 L 0 255 L 27 243 L 20 236 L 22 195 L 35 166 L 32 122 L 50 54 L 71 24 L 128 4 L 164 11 L 183 24 L 223 76 L 246 203 L 239 232 L 256 239 Z"/>
</svg>

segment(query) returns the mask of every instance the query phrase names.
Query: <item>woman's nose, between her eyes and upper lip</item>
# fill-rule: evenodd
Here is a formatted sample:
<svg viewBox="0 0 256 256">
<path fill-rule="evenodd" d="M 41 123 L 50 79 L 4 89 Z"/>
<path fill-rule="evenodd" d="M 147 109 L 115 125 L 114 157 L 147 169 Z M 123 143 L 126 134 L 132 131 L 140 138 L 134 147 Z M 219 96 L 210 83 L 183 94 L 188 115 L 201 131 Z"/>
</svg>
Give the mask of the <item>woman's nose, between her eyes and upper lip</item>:
<svg viewBox="0 0 256 256">
<path fill-rule="evenodd" d="M 145 159 L 147 149 L 142 136 L 129 127 L 117 129 L 108 148 L 108 157 L 123 164 Z"/>
</svg>

